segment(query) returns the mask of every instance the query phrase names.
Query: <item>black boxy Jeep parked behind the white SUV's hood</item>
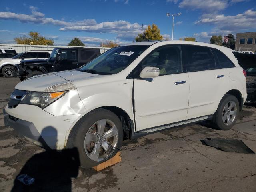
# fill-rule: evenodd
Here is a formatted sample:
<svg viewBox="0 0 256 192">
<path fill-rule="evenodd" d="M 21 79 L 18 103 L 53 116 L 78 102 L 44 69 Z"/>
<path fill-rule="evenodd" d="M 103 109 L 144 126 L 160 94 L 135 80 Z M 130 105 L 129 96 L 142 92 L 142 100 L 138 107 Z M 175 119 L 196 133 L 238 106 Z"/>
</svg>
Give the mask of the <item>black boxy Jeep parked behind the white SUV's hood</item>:
<svg viewBox="0 0 256 192">
<path fill-rule="evenodd" d="M 100 55 L 100 49 L 73 47 L 54 48 L 47 60 L 26 60 L 16 65 L 15 73 L 20 80 L 36 75 L 75 69 Z"/>
</svg>

